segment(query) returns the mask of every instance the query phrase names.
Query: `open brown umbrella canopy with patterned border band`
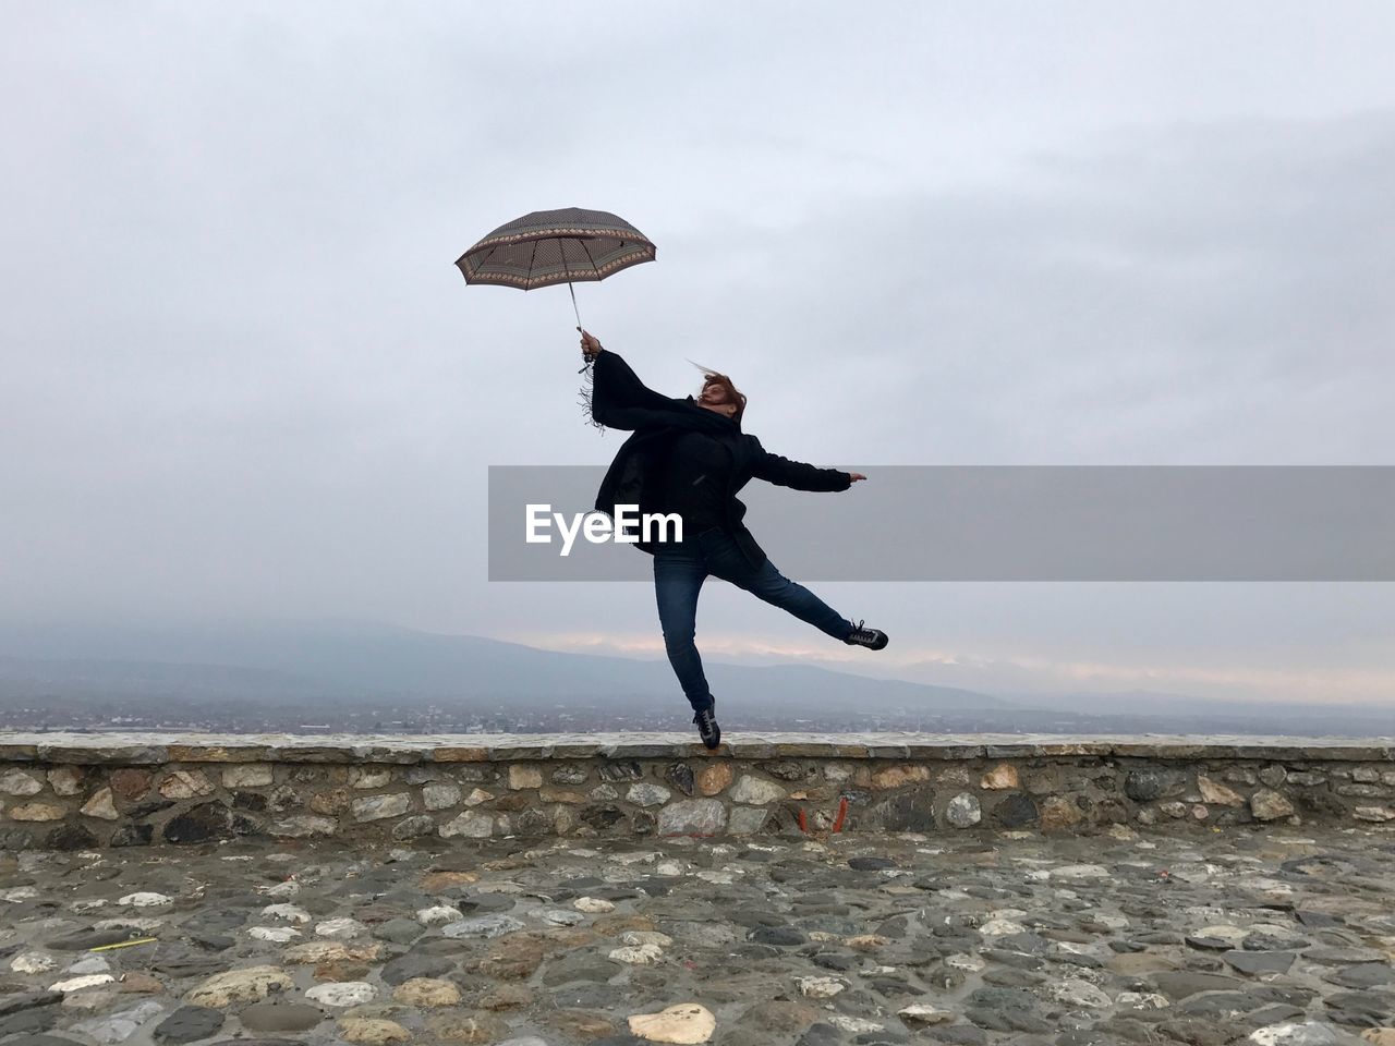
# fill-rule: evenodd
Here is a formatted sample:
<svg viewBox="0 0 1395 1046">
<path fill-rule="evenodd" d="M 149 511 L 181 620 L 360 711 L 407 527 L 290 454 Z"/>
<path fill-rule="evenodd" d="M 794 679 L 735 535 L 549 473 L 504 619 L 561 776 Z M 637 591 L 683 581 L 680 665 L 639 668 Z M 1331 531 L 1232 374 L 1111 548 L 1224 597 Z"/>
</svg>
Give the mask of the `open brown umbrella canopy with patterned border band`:
<svg viewBox="0 0 1395 1046">
<path fill-rule="evenodd" d="M 569 206 L 534 211 L 499 226 L 460 255 L 466 283 L 533 290 L 603 280 L 654 261 L 656 247 L 629 222 L 605 211 Z"/>
</svg>

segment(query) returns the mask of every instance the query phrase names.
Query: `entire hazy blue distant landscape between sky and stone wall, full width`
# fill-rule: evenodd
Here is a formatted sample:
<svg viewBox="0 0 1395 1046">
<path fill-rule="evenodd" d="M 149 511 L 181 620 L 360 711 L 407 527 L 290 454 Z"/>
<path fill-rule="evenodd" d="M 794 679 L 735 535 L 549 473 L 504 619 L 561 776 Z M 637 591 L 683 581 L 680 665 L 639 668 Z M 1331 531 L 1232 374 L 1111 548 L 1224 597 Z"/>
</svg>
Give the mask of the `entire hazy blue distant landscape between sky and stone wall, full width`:
<svg viewBox="0 0 1395 1046">
<path fill-rule="evenodd" d="M 1187 695 L 989 695 L 815 665 L 738 665 L 706 660 L 718 702 L 739 700 L 773 721 L 840 724 L 883 717 L 912 728 L 1069 732 L 1235 732 L 1387 736 L 1388 710 L 1338 704 L 1225 702 Z M 173 711 L 241 707 L 324 718 L 325 710 L 396 715 L 430 706 L 462 713 L 590 708 L 604 720 L 672 714 L 682 695 L 664 660 L 559 653 L 478 636 L 386 625 L 25 626 L 0 625 L 0 708 L 49 702 L 73 714 L 114 715 L 128 703 Z M 889 718 L 887 718 L 889 717 Z M 248 727 L 258 721 L 248 713 Z M 354 720 L 357 721 L 357 720 Z M 0 721 L 0 727 L 4 722 Z M 571 727 L 564 727 L 571 728 Z"/>
</svg>

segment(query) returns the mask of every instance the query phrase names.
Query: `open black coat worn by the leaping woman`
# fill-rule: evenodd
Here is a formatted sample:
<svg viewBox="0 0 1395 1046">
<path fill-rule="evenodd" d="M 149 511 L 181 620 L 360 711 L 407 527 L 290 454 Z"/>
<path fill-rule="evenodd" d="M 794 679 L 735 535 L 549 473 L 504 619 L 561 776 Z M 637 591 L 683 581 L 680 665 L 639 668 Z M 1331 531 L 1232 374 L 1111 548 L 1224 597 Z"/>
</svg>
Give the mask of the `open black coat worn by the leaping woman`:
<svg viewBox="0 0 1395 1046">
<path fill-rule="evenodd" d="M 746 506 L 737 499 L 737 492 L 752 478 L 797 491 L 845 491 L 852 485 L 848 473 L 770 453 L 759 439 L 742 432 L 739 424 L 698 406 L 692 396 L 671 399 L 646 388 L 629 364 L 608 349 L 596 357 L 593 367 L 591 417 L 608 428 L 633 432 L 617 452 L 596 495 L 596 509 L 607 516 L 614 517 L 617 505 L 638 505 L 640 513 L 665 510 L 657 503 L 663 490 L 660 477 L 674 439 L 691 431 L 717 439 L 731 452 L 723 529 L 752 569 L 764 562 L 766 554 L 741 522 Z M 638 544 L 643 551 L 654 552 L 651 543 Z"/>
</svg>

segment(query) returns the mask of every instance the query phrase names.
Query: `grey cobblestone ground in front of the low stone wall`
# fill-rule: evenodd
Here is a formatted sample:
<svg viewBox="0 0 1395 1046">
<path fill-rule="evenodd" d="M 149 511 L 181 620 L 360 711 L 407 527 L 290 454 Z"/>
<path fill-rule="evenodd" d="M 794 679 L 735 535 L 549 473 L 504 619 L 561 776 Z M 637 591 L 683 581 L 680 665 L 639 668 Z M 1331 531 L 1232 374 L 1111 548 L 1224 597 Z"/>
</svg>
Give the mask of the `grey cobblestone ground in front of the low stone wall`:
<svg viewBox="0 0 1395 1046">
<path fill-rule="evenodd" d="M 1374 828 L 0 855 L 4 1046 L 1395 1043 L 1392 958 Z"/>
</svg>

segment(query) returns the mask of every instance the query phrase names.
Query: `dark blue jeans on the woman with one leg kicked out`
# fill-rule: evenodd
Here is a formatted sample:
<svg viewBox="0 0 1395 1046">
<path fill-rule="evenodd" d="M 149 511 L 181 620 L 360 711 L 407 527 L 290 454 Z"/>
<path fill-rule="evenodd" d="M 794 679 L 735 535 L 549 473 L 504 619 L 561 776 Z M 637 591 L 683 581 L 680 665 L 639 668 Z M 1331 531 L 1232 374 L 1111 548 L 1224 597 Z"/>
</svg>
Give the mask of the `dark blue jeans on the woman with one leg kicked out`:
<svg viewBox="0 0 1395 1046">
<path fill-rule="evenodd" d="M 695 543 L 661 548 L 654 555 L 654 596 L 664 649 L 693 711 L 711 707 L 711 692 L 693 643 L 698 630 L 698 594 L 707 575 L 731 582 L 766 602 L 790 611 L 834 639 L 847 639 L 852 622 L 829 604 L 781 575 L 769 559 L 752 569 L 737 544 L 723 530 L 698 534 Z"/>
</svg>

